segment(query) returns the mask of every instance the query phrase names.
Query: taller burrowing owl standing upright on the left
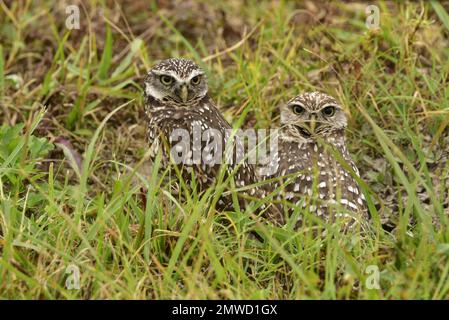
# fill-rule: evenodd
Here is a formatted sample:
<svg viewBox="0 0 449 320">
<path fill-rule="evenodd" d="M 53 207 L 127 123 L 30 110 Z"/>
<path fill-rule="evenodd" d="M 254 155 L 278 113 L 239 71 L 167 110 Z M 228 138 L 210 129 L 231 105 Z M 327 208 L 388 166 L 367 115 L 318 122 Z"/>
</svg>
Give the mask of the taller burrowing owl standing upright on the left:
<svg viewBox="0 0 449 320">
<path fill-rule="evenodd" d="M 220 165 L 224 162 L 229 164 L 226 174 L 236 169 L 234 180 L 237 187 L 256 182 L 253 166 L 241 155 L 237 157 L 237 152 L 230 161 L 226 161 L 224 150 L 232 128 L 209 97 L 206 75 L 197 64 L 182 58 L 164 60 L 148 72 L 144 85 L 152 155 L 154 157 L 159 149 L 162 150 L 163 167 L 173 163 L 178 156 L 178 160 L 182 160 L 177 164 L 184 180 L 191 183 L 193 171 L 199 191 L 216 181 Z M 180 144 L 185 133 L 187 139 L 184 142 L 189 146 Z M 217 142 L 221 148 L 212 150 Z M 239 142 L 233 140 L 232 143 Z M 218 155 L 220 152 L 222 154 Z M 243 161 L 238 162 L 237 159 Z M 257 188 L 252 188 L 248 193 L 255 195 L 256 191 Z"/>
</svg>

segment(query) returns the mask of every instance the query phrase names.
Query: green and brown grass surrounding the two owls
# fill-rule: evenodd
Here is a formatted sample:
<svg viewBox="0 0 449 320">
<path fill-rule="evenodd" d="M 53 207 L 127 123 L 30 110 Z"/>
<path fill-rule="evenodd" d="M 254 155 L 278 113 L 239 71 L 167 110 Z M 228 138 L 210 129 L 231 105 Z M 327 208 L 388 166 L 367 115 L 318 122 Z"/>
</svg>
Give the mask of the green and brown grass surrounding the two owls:
<svg viewBox="0 0 449 320">
<path fill-rule="evenodd" d="M 380 2 L 370 31 L 363 3 L 106 2 L 71 31 L 64 7 L 0 2 L 1 298 L 449 298 L 448 3 Z M 148 166 L 141 83 L 172 56 L 200 63 L 243 127 L 276 127 L 303 91 L 340 100 L 373 236 L 270 226 L 252 214 L 269 198 L 218 212 L 226 181 L 171 194 L 176 173 Z"/>
</svg>

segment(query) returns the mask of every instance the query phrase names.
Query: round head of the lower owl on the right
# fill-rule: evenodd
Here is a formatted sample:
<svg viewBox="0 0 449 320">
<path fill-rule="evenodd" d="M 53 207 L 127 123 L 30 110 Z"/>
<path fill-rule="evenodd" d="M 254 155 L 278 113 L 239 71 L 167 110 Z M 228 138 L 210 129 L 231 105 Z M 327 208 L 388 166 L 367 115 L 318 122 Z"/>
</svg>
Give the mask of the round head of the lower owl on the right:
<svg viewBox="0 0 449 320">
<path fill-rule="evenodd" d="M 281 110 L 281 126 L 291 138 L 326 138 L 346 128 L 339 103 L 321 92 L 307 92 L 291 99 Z"/>
</svg>

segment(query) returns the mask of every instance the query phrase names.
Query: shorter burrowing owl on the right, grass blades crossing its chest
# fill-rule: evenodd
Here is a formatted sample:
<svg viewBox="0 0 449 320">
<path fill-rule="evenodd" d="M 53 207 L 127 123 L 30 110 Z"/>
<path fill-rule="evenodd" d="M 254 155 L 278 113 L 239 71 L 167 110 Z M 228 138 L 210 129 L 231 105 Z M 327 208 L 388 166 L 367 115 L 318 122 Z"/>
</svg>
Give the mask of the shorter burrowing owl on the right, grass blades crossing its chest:
<svg viewBox="0 0 449 320">
<path fill-rule="evenodd" d="M 328 222 L 343 216 L 352 225 L 369 218 L 364 195 L 350 174 L 358 170 L 345 145 L 346 124 L 338 102 L 320 92 L 301 94 L 282 107 L 279 154 L 273 157 L 277 176 L 284 177 L 273 186 L 284 184 L 278 199 L 288 200 L 292 208 L 307 206 Z"/>
</svg>

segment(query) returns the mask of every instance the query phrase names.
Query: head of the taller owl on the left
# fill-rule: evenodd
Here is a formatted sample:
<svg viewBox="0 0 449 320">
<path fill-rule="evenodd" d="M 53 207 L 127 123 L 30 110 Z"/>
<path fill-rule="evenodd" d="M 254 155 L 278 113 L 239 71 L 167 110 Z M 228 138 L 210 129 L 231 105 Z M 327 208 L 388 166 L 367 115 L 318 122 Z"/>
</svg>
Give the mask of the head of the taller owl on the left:
<svg viewBox="0 0 449 320">
<path fill-rule="evenodd" d="M 147 96 L 175 106 L 188 105 L 207 94 L 204 71 L 183 58 L 161 61 L 148 72 L 144 84 Z"/>
</svg>

